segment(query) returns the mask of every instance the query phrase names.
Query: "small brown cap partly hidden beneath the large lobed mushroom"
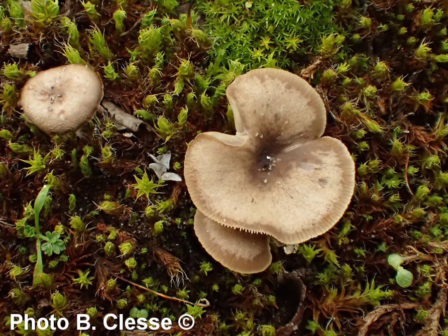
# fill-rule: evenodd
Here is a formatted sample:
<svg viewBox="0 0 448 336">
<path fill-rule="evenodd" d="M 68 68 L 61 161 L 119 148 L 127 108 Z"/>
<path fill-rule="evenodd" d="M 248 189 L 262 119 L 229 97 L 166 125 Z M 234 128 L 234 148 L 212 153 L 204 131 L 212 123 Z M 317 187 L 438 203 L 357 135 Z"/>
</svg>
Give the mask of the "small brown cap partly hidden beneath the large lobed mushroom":
<svg viewBox="0 0 448 336">
<path fill-rule="evenodd" d="M 234 272 L 261 272 L 272 261 L 269 237 L 264 234 L 226 227 L 200 211 L 196 211 L 194 228 L 204 249 Z"/>
</svg>

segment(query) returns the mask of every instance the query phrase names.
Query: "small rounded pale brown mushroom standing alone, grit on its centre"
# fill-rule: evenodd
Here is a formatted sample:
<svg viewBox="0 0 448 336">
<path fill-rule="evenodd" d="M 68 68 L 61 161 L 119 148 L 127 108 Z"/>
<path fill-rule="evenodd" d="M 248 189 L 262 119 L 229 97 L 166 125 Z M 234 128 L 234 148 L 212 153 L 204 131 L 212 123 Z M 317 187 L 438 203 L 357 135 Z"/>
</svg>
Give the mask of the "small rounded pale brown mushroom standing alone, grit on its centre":
<svg viewBox="0 0 448 336">
<path fill-rule="evenodd" d="M 102 99 L 100 76 L 88 66 L 70 64 L 30 78 L 19 105 L 29 122 L 52 135 L 75 131 L 87 123 Z"/>
</svg>

